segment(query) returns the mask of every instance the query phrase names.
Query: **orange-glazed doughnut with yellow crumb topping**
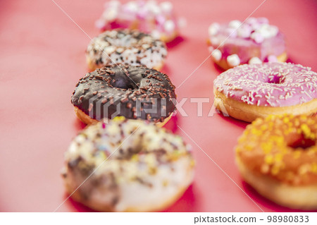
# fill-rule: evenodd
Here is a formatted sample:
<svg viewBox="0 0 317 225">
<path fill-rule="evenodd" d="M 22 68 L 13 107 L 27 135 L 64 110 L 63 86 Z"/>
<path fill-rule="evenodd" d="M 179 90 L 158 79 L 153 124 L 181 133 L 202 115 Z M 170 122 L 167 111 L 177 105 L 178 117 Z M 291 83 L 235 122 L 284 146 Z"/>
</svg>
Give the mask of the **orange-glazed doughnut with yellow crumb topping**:
<svg viewBox="0 0 317 225">
<path fill-rule="evenodd" d="M 236 162 L 261 195 L 294 209 L 317 209 L 317 117 L 257 118 L 239 138 Z"/>
</svg>

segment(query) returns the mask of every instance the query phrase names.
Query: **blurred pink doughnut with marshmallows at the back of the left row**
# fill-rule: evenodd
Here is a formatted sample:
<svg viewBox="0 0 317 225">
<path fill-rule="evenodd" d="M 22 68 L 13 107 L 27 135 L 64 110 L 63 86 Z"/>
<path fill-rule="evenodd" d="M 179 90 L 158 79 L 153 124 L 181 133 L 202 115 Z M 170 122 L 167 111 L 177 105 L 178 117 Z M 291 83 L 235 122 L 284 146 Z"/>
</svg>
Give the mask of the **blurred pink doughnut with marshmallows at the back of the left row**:
<svg viewBox="0 0 317 225">
<path fill-rule="evenodd" d="M 163 1 L 108 1 L 104 13 L 96 21 L 97 28 L 111 30 L 113 28 L 137 29 L 151 34 L 163 42 L 170 42 L 178 36 L 178 30 L 185 25 L 185 18 L 177 18 L 173 4 Z"/>
</svg>

